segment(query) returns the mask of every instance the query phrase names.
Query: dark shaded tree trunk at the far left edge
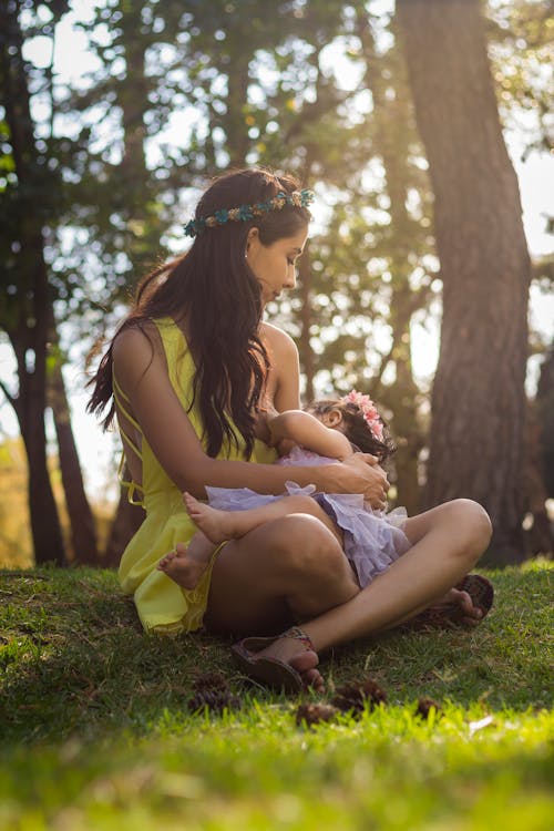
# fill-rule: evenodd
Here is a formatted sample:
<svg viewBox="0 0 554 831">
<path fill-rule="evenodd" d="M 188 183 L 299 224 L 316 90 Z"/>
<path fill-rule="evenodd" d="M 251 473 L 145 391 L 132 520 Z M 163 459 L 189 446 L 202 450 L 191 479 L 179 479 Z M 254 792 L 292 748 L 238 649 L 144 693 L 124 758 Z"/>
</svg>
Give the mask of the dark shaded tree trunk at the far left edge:
<svg viewBox="0 0 554 831">
<path fill-rule="evenodd" d="M 37 563 L 65 563 L 58 509 L 47 465 L 44 409 L 47 349 L 51 297 L 44 260 L 42 214 L 51 199 L 52 182 L 39 161 L 31 119 L 30 93 L 16 2 L 0 6 L 0 81 L 12 148 L 17 185 L 11 195 L 13 215 L 6 217 L 13 234 L 11 261 L 4 263 L 7 280 L 16 294 L 3 299 L 0 321 L 18 362 L 17 396 L 4 389 L 18 417 L 29 462 L 29 509 Z M 48 193 L 48 198 L 47 198 Z"/>
</svg>

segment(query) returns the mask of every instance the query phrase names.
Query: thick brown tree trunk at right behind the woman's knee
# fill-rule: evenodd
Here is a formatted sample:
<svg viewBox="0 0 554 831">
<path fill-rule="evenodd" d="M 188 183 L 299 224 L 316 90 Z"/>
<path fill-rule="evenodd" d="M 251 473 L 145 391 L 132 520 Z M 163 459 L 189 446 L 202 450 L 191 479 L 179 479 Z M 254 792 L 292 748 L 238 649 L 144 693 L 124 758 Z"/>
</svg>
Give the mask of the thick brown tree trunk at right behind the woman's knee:
<svg viewBox="0 0 554 831">
<path fill-rule="evenodd" d="M 530 258 L 479 0 L 399 0 L 416 114 L 435 196 L 443 281 L 429 502 L 489 511 L 490 560 L 523 553 Z"/>
</svg>

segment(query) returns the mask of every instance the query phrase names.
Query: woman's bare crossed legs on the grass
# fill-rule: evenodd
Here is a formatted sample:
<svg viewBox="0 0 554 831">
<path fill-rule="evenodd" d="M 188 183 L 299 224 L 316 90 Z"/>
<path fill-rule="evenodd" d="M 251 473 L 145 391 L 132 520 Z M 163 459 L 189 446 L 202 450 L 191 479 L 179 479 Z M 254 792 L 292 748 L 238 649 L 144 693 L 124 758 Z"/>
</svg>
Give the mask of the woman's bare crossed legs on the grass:
<svg viewBox="0 0 554 831">
<path fill-rule="evenodd" d="M 301 519 L 285 517 L 226 546 L 236 547 L 214 570 L 208 625 L 212 619 L 216 628 L 254 634 L 275 627 L 279 619 L 285 624 L 291 612 L 304 622 L 315 648 L 326 649 L 389 628 L 429 606 L 471 571 L 491 536 L 489 516 L 476 503 L 455 500 L 439 505 L 407 521 L 404 531 L 413 546 L 360 592 L 321 523 L 312 521 L 319 530 L 300 523 L 293 533 L 287 521 Z M 294 640 L 281 638 L 267 654 L 290 660 L 297 652 Z"/>
</svg>

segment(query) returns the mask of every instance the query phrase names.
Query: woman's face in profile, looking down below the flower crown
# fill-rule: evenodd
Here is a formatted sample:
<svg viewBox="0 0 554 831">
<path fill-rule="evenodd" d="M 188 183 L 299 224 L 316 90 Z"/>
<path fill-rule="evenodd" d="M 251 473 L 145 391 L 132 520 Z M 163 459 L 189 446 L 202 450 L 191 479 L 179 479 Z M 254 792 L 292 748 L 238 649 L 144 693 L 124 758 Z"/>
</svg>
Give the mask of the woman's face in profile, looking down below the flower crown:
<svg viewBox="0 0 554 831">
<path fill-rule="evenodd" d="M 261 301 L 276 300 L 284 288 L 296 286 L 296 260 L 304 250 L 308 228 L 270 245 L 259 240 L 258 228 L 250 228 L 246 242 L 246 260 L 261 288 Z"/>
</svg>

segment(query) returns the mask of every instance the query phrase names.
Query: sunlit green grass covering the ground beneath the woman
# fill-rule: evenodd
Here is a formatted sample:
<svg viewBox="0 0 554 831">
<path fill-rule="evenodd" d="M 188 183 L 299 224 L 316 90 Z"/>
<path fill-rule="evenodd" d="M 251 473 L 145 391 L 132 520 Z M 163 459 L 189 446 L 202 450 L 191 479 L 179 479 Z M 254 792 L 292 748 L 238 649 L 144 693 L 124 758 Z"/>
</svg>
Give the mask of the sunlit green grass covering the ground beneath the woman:
<svg viewBox="0 0 554 831">
<path fill-rule="evenodd" d="M 308 728 L 226 642 L 145 636 L 112 572 L 0 572 L 0 829 L 550 831 L 552 564 L 488 574 L 478 629 L 327 656 L 331 688 L 372 678 L 388 704 Z M 238 709 L 189 710 L 208 670 Z"/>
</svg>

